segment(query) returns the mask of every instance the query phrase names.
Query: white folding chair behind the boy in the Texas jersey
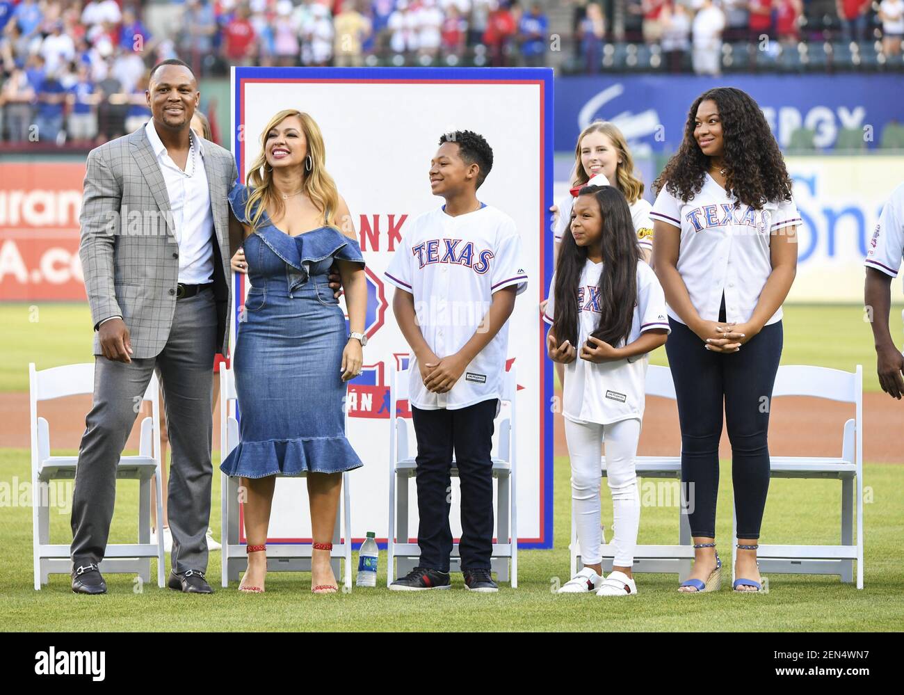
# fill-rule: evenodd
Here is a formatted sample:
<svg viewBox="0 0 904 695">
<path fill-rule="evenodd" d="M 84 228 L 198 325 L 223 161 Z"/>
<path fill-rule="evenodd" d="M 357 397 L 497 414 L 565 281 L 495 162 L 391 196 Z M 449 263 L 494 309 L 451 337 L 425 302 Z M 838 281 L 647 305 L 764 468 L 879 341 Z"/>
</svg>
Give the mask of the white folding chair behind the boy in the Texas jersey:
<svg viewBox="0 0 904 695">
<path fill-rule="evenodd" d="M 409 455 L 408 422 L 396 416 L 399 401 L 407 401 L 409 372 L 396 370 L 390 381 L 390 531 L 387 539 L 388 566 L 386 586 L 395 581 L 396 576 L 407 574 L 417 566 L 420 548 L 409 542 L 409 481 L 417 473 L 415 457 Z M 515 486 L 515 451 L 517 443 L 515 402 L 517 378 L 514 367 L 505 373 L 503 379 L 502 404 L 508 406 L 508 416 L 498 423 L 499 433 L 493 460 L 493 476 L 496 484 L 496 541 L 490 564 L 500 581 L 510 581 L 512 588 L 518 587 L 518 514 Z M 500 413 L 504 413 L 501 410 Z M 455 458 L 452 459 L 452 477 L 458 476 Z M 506 542 L 508 541 L 508 542 Z M 512 563 L 509 579 L 509 561 Z M 398 563 L 398 566 L 397 566 Z M 451 563 L 461 566 L 458 544 L 452 546 Z"/>
</svg>

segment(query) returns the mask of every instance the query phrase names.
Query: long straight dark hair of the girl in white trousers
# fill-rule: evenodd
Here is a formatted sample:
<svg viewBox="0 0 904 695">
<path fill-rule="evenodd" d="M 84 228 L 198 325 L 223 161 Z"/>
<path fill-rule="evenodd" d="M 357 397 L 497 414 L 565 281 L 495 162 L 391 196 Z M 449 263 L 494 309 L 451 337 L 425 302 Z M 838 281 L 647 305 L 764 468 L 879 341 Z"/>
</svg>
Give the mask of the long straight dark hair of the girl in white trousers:
<svg viewBox="0 0 904 695">
<path fill-rule="evenodd" d="M 578 195 L 593 195 L 603 219 L 599 240 L 603 271 L 599 275 L 599 321 L 590 335 L 616 347 L 627 340 L 634 321 L 637 298 L 637 262 L 640 247 L 625 195 L 614 186 L 584 186 Z M 562 235 L 553 290 L 555 318 L 552 332 L 561 344 L 578 345 L 578 286 L 587 263 L 587 249 L 570 233 Z"/>
</svg>

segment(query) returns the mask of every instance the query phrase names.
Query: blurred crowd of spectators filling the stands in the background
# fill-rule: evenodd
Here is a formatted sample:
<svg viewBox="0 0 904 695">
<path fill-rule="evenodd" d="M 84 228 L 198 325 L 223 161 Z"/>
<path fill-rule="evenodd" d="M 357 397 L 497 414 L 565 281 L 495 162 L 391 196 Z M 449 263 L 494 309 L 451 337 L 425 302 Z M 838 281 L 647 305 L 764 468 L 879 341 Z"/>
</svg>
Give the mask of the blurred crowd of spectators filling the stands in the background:
<svg viewBox="0 0 904 695">
<path fill-rule="evenodd" d="M 835 16 L 825 2 L 836 3 Z M 0 0 L 0 139 L 28 141 L 33 126 L 58 144 L 130 132 L 149 115 L 148 68 L 174 57 L 202 77 L 231 65 L 561 64 L 592 73 L 636 65 L 638 55 L 651 69 L 718 74 L 723 43 L 765 53 L 809 33 L 853 49 L 881 41 L 882 56 L 899 58 L 904 36 L 904 0 L 183 0 L 167 4 L 179 5 L 178 29 L 161 35 L 145 24 L 152 5 Z M 566 30 L 570 13 L 570 35 L 551 30 L 553 12 L 565 14 Z M 552 60 L 569 47 L 570 61 Z"/>
</svg>

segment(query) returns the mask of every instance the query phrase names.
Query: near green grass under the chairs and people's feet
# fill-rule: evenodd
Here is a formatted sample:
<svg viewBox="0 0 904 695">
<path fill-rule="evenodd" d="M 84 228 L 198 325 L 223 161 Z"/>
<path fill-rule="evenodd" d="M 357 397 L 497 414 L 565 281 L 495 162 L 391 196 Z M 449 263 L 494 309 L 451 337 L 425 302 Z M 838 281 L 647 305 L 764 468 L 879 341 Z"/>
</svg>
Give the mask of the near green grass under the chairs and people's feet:
<svg viewBox="0 0 904 695">
<path fill-rule="evenodd" d="M 728 468 L 728 464 L 723 464 Z M 723 558 L 729 558 L 730 475 L 721 476 L 718 529 Z M 28 479 L 28 453 L 0 452 L 0 480 Z M 638 574 L 636 597 L 603 599 L 594 595 L 553 595 L 556 577 L 568 579 L 570 486 L 568 460 L 555 469 L 555 549 L 519 554 L 519 587 L 502 585 L 497 595 L 465 591 L 461 576 L 453 576 L 446 592 L 390 592 L 385 588 L 386 558 L 381 553 L 375 589 L 351 594 L 315 596 L 310 576 L 275 573 L 267 577 L 265 595 L 240 595 L 237 584 L 220 588 L 220 553 L 212 552 L 208 579 L 210 596 L 181 595 L 154 584 L 136 593 L 135 576 L 108 574 L 108 595 L 72 595 L 69 577 L 52 575 L 42 591 L 33 589 L 31 509 L 3 509 L 2 528 L 7 552 L 0 566 L 0 611 L 4 630 L 26 631 L 179 631 L 186 625 L 199 630 L 353 631 L 897 631 L 904 624 L 904 572 L 899 542 L 904 534 L 904 468 L 866 467 L 865 588 L 842 584 L 837 577 L 769 576 L 766 595 L 738 595 L 725 582 L 718 594 L 679 595 L 677 576 Z M 641 487 L 644 500 L 645 481 Z M 220 536 L 220 476 L 214 476 L 211 524 Z M 773 481 L 763 534 L 775 543 L 833 543 L 839 537 L 837 481 Z M 650 496 L 653 497 L 652 495 Z M 65 499 L 69 499 L 66 497 Z M 603 495 L 603 519 L 611 526 L 611 505 Z M 52 542 L 68 542 L 69 511 L 52 513 Z M 641 512 L 640 542 L 667 543 L 677 537 L 675 507 L 645 506 Z M 137 483 L 120 482 L 111 542 L 134 538 L 137 522 Z M 607 532 L 607 536 L 610 533 Z M 355 559 L 355 567 L 357 560 Z M 154 563 L 155 564 L 155 563 Z M 168 562 L 167 562 L 168 564 Z M 724 577 L 725 579 L 728 576 Z M 728 586 L 726 586 L 728 585 Z"/>
</svg>

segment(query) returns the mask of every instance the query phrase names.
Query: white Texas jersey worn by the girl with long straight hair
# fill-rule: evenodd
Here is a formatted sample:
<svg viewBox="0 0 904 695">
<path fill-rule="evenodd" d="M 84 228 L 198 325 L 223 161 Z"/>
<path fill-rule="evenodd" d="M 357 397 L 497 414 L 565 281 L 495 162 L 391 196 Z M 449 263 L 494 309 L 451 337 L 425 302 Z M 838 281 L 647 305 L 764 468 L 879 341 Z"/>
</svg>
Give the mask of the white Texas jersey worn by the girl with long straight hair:
<svg viewBox="0 0 904 695">
<path fill-rule="evenodd" d="M 578 287 L 578 345 L 580 353 L 599 322 L 599 276 L 603 263 L 587 261 Z M 552 276 L 550 300 L 543 320 L 552 325 L 555 319 L 556 278 Z M 633 343 L 647 330 L 671 332 L 665 316 L 665 295 L 650 266 L 637 262 L 637 300 L 634 319 L 627 341 L 615 348 Z M 562 415 L 576 423 L 610 424 L 619 420 L 644 417 L 646 366 L 649 357 L 632 357 L 613 362 L 594 363 L 576 357 L 565 365 L 562 385 Z"/>
</svg>

